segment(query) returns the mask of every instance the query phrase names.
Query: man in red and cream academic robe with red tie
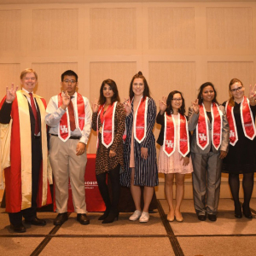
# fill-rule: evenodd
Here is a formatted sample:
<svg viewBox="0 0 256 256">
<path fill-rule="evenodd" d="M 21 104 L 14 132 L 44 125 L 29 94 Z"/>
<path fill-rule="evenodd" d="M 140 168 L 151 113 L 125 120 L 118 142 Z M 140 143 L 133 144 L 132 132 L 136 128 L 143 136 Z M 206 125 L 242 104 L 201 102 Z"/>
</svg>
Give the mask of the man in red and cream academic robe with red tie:
<svg viewBox="0 0 256 256">
<path fill-rule="evenodd" d="M 37 207 L 51 203 L 47 177 L 46 102 L 33 93 L 38 75 L 32 69 L 20 73 L 18 86 L 7 87 L 0 104 L 0 123 L 9 124 L 10 165 L 5 168 L 6 212 L 15 232 L 26 232 L 26 224 L 45 225 L 37 217 Z"/>
</svg>

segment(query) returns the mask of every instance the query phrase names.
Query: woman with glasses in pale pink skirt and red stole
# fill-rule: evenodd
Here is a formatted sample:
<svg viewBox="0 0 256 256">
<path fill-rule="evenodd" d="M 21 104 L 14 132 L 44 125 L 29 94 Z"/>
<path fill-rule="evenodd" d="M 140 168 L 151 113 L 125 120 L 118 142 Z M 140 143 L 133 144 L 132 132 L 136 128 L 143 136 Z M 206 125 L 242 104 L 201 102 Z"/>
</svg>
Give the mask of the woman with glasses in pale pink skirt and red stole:
<svg viewBox="0 0 256 256">
<path fill-rule="evenodd" d="M 169 206 L 167 220 L 183 221 L 180 206 L 184 195 L 184 178 L 186 173 L 193 172 L 189 161 L 189 129 L 185 117 L 183 94 L 172 90 L 169 96 L 162 97 L 160 112 L 156 123 L 161 125 L 157 143 L 160 144 L 159 172 L 165 173 L 165 192 Z M 176 207 L 173 206 L 173 179 L 176 183 Z"/>
</svg>

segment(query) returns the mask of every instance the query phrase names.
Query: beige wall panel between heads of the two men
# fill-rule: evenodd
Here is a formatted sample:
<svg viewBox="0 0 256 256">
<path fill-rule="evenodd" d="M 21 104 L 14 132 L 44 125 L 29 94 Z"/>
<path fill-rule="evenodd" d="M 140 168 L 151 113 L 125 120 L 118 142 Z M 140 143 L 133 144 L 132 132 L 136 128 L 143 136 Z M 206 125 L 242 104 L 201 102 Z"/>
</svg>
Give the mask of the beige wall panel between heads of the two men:
<svg viewBox="0 0 256 256">
<path fill-rule="evenodd" d="M 38 73 L 36 92 L 49 102 L 51 96 L 61 92 L 61 73 L 72 69 L 78 71 L 78 63 L 32 63 L 32 68 Z"/>
</svg>

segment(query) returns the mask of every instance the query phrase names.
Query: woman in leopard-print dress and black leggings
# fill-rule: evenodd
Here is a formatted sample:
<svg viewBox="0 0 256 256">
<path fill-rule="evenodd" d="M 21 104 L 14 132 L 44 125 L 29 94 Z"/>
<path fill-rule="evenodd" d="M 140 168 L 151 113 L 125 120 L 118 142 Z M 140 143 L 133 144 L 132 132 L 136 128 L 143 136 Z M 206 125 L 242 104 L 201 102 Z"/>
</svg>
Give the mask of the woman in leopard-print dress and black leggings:
<svg viewBox="0 0 256 256">
<path fill-rule="evenodd" d="M 92 105 L 92 129 L 97 131 L 96 179 L 106 205 L 99 218 L 102 224 L 112 223 L 119 217 L 119 172 L 124 166 L 123 134 L 125 131 L 125 108 L 119 103 L 119 91 L 112 79 L 102 82 L 99 101 Z M 106 175 L 109 175 L 112 201 L 108 194 Z"/>
</svg>

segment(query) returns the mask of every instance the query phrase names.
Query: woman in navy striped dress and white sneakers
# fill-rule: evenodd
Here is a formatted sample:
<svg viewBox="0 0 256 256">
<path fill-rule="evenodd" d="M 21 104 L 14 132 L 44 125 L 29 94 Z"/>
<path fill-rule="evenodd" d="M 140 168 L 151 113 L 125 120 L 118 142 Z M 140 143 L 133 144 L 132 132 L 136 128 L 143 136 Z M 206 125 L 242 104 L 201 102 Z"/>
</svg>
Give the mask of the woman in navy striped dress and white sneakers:
<svg viewBox="0 0 256 256">
<path fill-rule="evenodd" d="M 156 149 L 153 127 L 156 116 L 154 100 L 149 96 L 147 80 L 143 73 L 133 76 L 130 84 L 130 99 L 125 102 L 126 139 L 124 147 L 125 172 L 121 185 L 131 187 L 136 211 L 129 218 L 148 222 L 148 207 L 158 185 Z M 141 208 L 141 187 L 144 206 Z"/>
</svg>

